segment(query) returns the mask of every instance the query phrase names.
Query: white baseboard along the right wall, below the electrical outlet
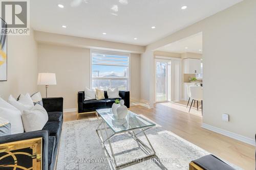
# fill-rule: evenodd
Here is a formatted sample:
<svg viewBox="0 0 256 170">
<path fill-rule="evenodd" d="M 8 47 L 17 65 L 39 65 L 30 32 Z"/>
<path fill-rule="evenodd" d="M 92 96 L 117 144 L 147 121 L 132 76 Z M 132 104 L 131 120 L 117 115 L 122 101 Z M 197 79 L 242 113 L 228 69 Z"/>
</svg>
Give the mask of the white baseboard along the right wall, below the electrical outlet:
<svg viewBox="0 0 256 170">
<path fill-rule="evenodd" d="M 231 137 L 233 139 L 237 139 L 239 141 L 242 141 L 242 142 L 245 142 L 245 143 L 248 143 L 248 144 L 251 144 L 251 145 L 255 146 L 255 140 L 254 139 L 251 139 L 251 138 L 248 138 L 248 137 L 245 137 L 245 136 L 233 133 L 233 132 L 229 132 L 229 131 L 226 131 L 226 130 L 223 130 L 223 129 L 220 129 L 220 128 L 217 128 L 217 127 L 214 127 L 214 126 L 211 126 L 211 125 L 208 125 L 208 124 L 204 124 L 204 123 L 202 124 L 201 127 L 204 128 L 204 129 L 214 131 L 216 133 L 219 133 L 219 134 L 222 134 L 222 135 L 225 135 L 225 136 Z"/>
</svg>

